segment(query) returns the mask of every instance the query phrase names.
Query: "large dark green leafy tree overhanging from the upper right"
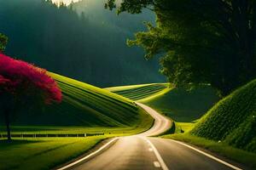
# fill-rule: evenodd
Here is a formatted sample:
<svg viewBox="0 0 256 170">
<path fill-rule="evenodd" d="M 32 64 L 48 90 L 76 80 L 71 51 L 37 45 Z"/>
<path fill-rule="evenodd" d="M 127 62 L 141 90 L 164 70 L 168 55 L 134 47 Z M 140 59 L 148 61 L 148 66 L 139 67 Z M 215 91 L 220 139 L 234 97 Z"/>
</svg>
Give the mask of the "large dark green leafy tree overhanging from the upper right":
<svg viewBox="0 0 256 170">
<path fill-rule="evenodd" d="M 163 55 L 162 72 L 177 86 L 211 83 L 225 95 L 256 77 L 255 0 L 108 0 L 106 8 L 154 10 L 157 26 L 129 44 L 148 59 Z"/>
</svg>

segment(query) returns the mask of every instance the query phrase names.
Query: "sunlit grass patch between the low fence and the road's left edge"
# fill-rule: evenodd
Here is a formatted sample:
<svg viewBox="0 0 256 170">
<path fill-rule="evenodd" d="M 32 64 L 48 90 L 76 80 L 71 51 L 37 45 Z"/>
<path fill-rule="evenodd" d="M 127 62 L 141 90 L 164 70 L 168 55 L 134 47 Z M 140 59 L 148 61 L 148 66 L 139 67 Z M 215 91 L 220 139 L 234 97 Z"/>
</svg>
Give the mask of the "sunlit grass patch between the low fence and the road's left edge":
<svg viewBox="0 0 256 170">
<path fill-rule="evenodd" d="M 0 169 L 51 169 L 83 154 L 102 139 L 19 139 L 12 143 L 0 140 Z"/>
</svg>

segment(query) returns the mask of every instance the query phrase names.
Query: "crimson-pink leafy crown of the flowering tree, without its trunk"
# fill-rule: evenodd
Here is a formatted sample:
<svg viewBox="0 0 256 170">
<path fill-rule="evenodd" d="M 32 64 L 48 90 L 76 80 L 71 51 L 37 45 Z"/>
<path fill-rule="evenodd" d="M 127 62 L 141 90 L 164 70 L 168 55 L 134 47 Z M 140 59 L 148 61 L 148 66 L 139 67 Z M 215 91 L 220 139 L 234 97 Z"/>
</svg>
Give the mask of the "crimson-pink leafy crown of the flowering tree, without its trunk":
<svg viewBox="0 0 256 170">
<path fill-rule="evenodd" d="M 44 69 L 4 54 L 0 54 L 0 84 L 0 93 L 11 94 L 21 105 L 40 99 L 45 104 L 61 102 L 61 90 Z"/>
</svg>

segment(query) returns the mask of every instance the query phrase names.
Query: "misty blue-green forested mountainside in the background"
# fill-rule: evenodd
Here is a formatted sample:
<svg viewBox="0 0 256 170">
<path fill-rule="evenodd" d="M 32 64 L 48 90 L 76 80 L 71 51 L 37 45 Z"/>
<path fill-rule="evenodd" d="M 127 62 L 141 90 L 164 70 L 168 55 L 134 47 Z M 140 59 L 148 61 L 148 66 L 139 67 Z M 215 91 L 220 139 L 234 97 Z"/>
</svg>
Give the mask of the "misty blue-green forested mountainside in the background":
<svg viewBox="0 0 256 170">
<path fill-rule="evenodd" d="M 1 1 L 0 32 L 9 37 L 5 54 L 98 87 L 163 82 L 157 59 L 147 63 L 142 49 L 125 44 L 134 31 L 145 30 L 143 20 L 154 21 L 154 13 L 118 17 L 103 1 L 67 7 L 44 0 Z"/>
</svg>

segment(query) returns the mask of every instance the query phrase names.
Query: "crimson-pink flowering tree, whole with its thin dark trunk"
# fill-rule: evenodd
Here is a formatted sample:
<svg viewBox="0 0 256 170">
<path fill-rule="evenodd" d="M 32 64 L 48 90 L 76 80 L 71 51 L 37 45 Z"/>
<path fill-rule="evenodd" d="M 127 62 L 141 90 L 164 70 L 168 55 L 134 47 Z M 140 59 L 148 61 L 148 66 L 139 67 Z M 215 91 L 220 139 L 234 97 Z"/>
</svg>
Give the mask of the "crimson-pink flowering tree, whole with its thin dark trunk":
<svg viewBox="0 0 256 170">
<path fill-rule="evenodd" d="M 54 102 L 61 102 L 61 90 L 44 69 L 0 54 L 0 113 L 9 141 L 11 120 L 21 107 L 40 109 Z"/>
</svg>

